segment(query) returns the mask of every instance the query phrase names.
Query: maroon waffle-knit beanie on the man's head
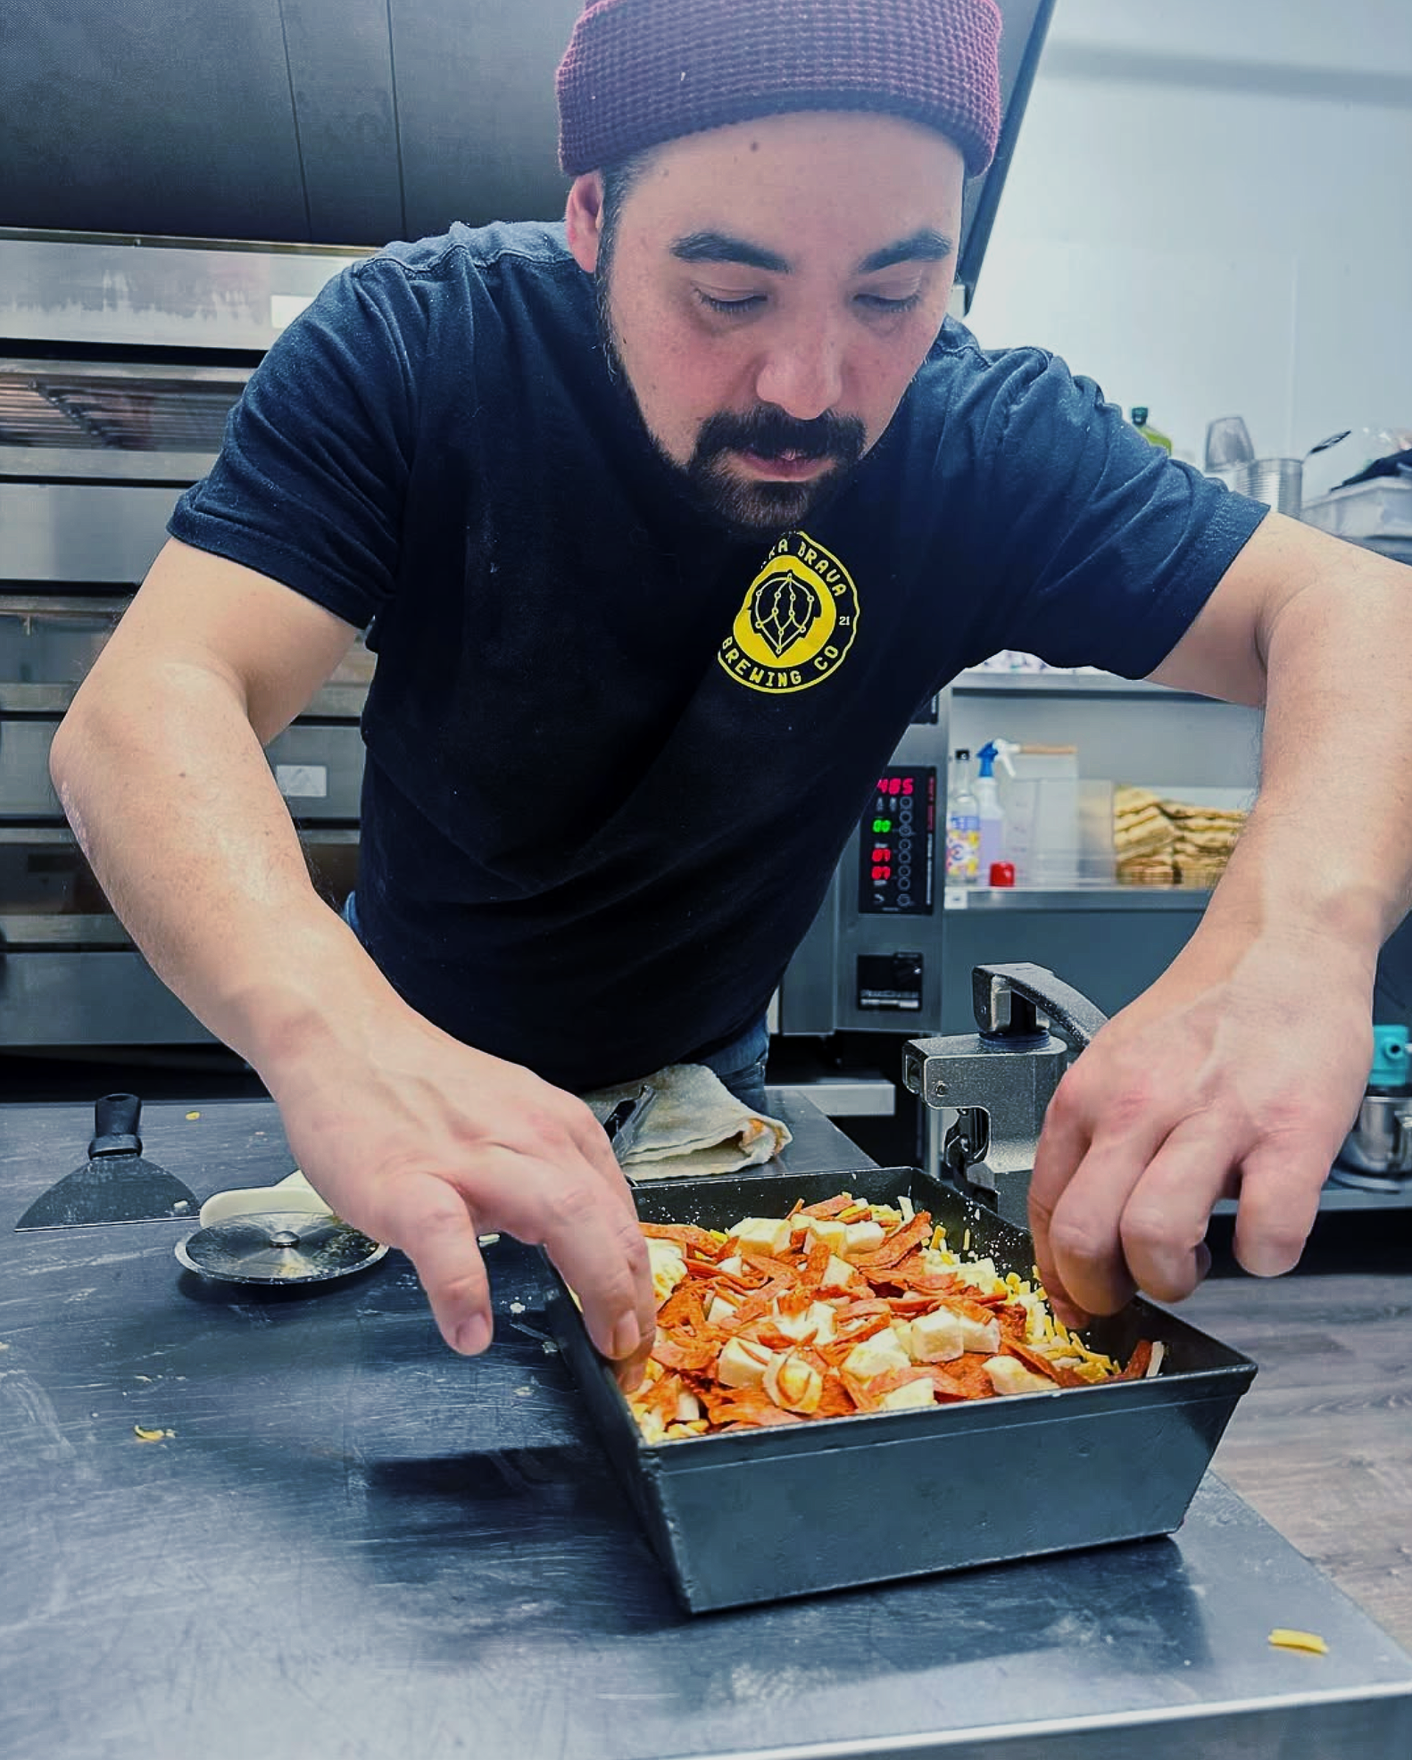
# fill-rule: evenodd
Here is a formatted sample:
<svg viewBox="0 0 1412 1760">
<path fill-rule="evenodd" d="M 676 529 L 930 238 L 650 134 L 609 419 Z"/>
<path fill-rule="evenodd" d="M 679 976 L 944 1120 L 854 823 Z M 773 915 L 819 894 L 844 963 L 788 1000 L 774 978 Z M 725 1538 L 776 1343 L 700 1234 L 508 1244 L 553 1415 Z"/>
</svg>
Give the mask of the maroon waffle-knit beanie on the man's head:
<svg viewBox="0 0 1412 1760">
<path fill-rule="evenodd" d="M 995 0 L 592 0 L 558 69 L 569 176 L 783 111 L 935 128 L 977 176 L 1000 132 Z"/>
</svg>

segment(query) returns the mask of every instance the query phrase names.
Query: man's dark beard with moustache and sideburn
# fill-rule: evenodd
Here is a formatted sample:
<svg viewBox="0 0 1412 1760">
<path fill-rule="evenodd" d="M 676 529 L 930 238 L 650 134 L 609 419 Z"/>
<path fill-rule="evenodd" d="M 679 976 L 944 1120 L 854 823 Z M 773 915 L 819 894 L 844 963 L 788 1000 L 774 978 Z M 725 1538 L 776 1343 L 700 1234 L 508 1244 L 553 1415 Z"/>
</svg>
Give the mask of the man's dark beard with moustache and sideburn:
<svg viewBox="0 0 1412 1760">
<path fill-rule="evenodd" d="M 761 403 L 743 415 L 722 410 L 701 424 L 692 456 L 685 465 L 680 465 L 666 451 L 643 414 L 643 405 L 618 348 L 609 297 L 609 262 L 611 250 L 602 255 L 595 275 L 599 341 L 609 373 L 621 380 L 632 396 L 643 433 L 671 473 L 678 491 L 699 512 L 708 514 L 738 539 L 780 537 L 831 502 L 852 477 L 866 451 L 866 429 L 856 415 L 835 415 L 826 410 L 812 421 L 798 421 L 773 403 Z M 782 454 L 791 454 L 794 459 L 833 459 L 833 468 L 820 472 L 808 482 L 769 482 L 768 479 L 734 475 L 729 463 L 732 452 L 752 452 L 762 459 Z"/>
</svg>

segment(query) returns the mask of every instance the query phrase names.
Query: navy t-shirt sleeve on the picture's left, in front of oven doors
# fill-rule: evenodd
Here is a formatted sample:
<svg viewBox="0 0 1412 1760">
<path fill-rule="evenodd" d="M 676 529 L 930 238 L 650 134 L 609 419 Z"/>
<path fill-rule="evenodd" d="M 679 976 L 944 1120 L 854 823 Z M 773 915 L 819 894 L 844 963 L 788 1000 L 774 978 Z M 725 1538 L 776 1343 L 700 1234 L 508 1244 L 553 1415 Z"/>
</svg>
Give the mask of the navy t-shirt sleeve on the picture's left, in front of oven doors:
<svg viewBox="0 0 1412 1760">
<path fill-rule="evenodd" d="M 424 334 L 398 266 L 335 276 L 261 361 L 171 535 L 366 628 L 396 583 Z"/>
</svg>

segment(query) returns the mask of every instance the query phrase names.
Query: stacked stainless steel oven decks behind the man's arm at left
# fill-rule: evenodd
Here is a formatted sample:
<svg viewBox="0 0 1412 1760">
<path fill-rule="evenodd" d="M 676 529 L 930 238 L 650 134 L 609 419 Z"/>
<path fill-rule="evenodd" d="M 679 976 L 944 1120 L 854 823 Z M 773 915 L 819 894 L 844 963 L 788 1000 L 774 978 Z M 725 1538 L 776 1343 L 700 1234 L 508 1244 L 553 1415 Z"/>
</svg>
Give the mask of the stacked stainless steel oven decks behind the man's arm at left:
<svg viewBox="0 0 1412 1760">
<path fill-rule="evenodd" d="M 49 743 L 261 354 L 354 259 L 0 236 L 0 1047 L 210 1038 L 93 880 L 49 785 Z M 370 672 L 354 648 L 269 746 L 333 901 L 357 862 Z"/>
</svg>

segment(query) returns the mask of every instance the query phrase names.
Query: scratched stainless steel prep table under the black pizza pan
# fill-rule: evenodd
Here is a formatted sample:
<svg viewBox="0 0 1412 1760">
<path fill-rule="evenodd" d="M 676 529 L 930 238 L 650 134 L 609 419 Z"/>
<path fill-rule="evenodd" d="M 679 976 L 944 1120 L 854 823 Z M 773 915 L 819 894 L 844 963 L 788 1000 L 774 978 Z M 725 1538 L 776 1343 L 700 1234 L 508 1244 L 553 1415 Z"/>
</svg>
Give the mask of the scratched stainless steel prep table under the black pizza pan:
<svg viewBox="0 0 1412 1760">
<path fill-rule="evenodd" d="M 866 1165 L 773 1100 L 785 1165 Z M 400 1255 L 248 1294 L 181 1272 L 180 1225 L 14 1234 L 90 1133 L 0 1109 L 7 1760 L 1412 1753 L 1412 1658 L 1211 1475 L 1171 1540 L 690 1619 L 537 1332 L 532 1253 L 491 1248 L 467 1360 Z M 292 1167 L 268 1102 L 151 1105 L 143 1137 L 199 1197 Z"/>
</svg>

